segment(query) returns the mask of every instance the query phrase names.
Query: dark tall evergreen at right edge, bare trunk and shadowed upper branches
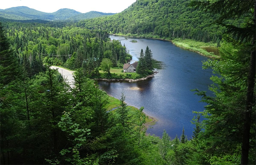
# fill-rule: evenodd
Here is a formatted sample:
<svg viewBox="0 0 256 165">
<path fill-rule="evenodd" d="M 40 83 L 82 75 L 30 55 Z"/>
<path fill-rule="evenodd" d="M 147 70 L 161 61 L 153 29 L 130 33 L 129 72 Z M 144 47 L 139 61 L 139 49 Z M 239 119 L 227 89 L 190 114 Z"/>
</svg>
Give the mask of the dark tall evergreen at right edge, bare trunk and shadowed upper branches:
<svg viewBox="0 0 256 165">
<path fill-rule="evenodd" d="M 196 5 L 210 11 L 214 14 L 220 14 L 217 20 L 218 24 L 227 28 L 227 33 L 233 35 L 238 42 L 244 43 L 251 49 L 251 56 L 248 69 L 247 79 L 247 93 L 245 99 L 244 110 L 244 123 L 242 134 L 242 148 L 241 148 L 241 164 L 249 163 L 249 149 L 251 141 L 251 128 L 252 128 L 252 113 L 255 107 L 255 74 L 256 74 L 256 1 L 229 1 L 229 0 L 217 0 L 217 1 L 192 1 L 192 5 Z M 229 19 L 236 19 L 244 17 L 245 26 L 237 26 L 236 23 L 228 23 Z M 234 21 L 236 22 L 236 21 Z M 255 137 L 255 136 L 253 136 Z M 255 162 L 253 162 L 255 164 Z"/>
</svg>

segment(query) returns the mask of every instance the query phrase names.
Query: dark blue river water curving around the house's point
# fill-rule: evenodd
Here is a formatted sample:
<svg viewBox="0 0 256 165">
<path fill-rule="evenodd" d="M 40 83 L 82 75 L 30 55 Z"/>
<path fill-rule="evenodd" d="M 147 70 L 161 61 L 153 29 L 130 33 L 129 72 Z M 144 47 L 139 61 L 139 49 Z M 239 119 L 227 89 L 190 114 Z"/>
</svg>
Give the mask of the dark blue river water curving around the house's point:
<svg viewBox="0 0 256 165">
<path fill-rule="evenodd" d="M 200 54 L 176 47 L 171 42 L 157 39 L 136 38 L 137 43 L 131 43 L 129 37 L 110 36 L 120 40 L 122 45 L 138 59 L 140 50 L 148 46 L 153 58 L 163 62 L 163 69 L 148 80 L 139 82 L 99 82 L 101 89 L 113 97 L 120 98 L 122 90 L 125 92 L 125 102 L 134 107 L 144 107 L 144 112 L 158 120 L 147 133 L 162 136 L 165 129 L 173 139 L 176 134 L 185 134 L 190 138 L 194 125 L 191 119 L 196 114 L 192 111 L 203 111 L 205 103 L 199 103 L 200 96 L 194 95 L 191 89 L 208 91 L 212 84 L 209 79 L 211 70 L 202 69 L 202 61 L 207 60 Z M 138 87 L 134 90 L 131 87 Z M 207 92 L 208 94 L 210 91 Z"/>
</svg>

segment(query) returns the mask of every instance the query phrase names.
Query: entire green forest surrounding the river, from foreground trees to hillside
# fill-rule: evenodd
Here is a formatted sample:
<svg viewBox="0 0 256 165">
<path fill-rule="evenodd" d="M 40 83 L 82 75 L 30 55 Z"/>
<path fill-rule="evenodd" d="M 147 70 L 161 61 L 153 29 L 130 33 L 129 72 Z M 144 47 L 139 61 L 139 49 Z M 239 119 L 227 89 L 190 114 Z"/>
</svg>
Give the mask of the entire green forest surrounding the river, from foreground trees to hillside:
<svg viewBox="0 0 256 165">
<path fill-rule="evenodd" d="M 255 19 L 255 0 L 137 0 L 121 14 L 79 23 L 5 20 L 1 164 L 256 164 Z M 113 98 L 89 78 L 109 75 L 99 73 L 103 61 L 118 68 L 131 59 L 108 32 L 217 42 L 221 58 L 203 63 L 218 75 L 214 96 L 194 89 L 207 105 L 192 119 L 191 139 L 184 129 L 174 139 L 145 135 L 143 107 L 128 107 L 125 93 L 108 109 Z M 141 51 L 141 70 L 152 69 L 142 65 L 151 56 Z M 76 70 L 75 87 L 51 65 Z"/>
</svg>

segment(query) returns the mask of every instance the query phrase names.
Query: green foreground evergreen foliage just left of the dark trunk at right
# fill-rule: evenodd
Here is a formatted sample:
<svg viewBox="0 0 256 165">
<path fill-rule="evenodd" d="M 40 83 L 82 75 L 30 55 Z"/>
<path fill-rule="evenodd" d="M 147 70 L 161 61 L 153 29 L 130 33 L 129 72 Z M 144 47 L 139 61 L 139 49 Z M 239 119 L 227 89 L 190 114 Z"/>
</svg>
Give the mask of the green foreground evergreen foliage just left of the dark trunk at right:
<svg viewBox="0 0 256 165">
<path fill-rule="evenodd" d="M 204 139 L 203 144 L 207 145 L 203 147 L 208 153 L 205 157 L 213 157 L 207 160 L 209 163 L 224 163 L 227 157 L 233 157 L 232 160 L 236 161 L 230 163 L 239 164 L 250 50 L 245 45 L 223 41 L 220 52 L 221 60 L 204 62 L 204 68 L 212 68 L 220 76 L 211 77 L 215 84 L 211 85 L 210 90 L 215 97 L 207 96 L 205 92 L 198 93 L 208 103 L 203 113 L 208 120 L 203 121 L 204 132 L 199 134 L 199 139 Z M 251 142 L 255 141 L 254 137 L 250 139 Z M 255 154 L 255 151 L 251 151 L 251 154 Z"/>
</svg>

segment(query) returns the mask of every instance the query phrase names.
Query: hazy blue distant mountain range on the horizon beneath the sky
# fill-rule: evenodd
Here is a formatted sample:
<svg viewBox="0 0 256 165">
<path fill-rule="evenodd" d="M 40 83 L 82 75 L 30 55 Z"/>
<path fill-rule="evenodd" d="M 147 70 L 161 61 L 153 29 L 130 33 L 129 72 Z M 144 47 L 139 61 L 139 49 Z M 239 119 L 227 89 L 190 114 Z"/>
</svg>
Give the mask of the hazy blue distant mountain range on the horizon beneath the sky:
<svg viewBox="0 0 256 165">
<path fill-rule="evenodd" d="M 46 13 L 31 9 L 26 6 L 12 7 L 8 9 L 0 9 L 0 17 L 13 20 L 83 20 L 89 18 L 95 18 L 99 16 L 113 15 L 113 13 L 102 13 L 97 11 L 91 11 L 87 13 L 81 13 L 73 9 L 59 9 L 53 13 Z"/>
</svg>

